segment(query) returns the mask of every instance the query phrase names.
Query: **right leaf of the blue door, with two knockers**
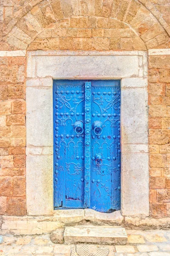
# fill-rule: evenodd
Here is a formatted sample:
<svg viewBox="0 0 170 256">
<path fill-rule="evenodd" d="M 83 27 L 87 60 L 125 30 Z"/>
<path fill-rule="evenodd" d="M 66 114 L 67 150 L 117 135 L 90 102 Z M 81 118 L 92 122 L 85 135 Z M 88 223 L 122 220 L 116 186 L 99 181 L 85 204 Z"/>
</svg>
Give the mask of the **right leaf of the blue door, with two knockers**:
<svg viewBox="0 0 170 256">
<path fill-rule="evenodd" d="M 120 209 L 120 166 L 117 164 L 120 164 L 119 82 L 92 80 L 91 93 L 91 208 L 108 212 Z M 93 127 L 96 121 L 101 124 L 98 132 Z M 99 163 L 96 157 L 101 159 Z"/>
</svg>

